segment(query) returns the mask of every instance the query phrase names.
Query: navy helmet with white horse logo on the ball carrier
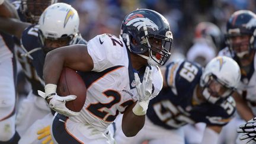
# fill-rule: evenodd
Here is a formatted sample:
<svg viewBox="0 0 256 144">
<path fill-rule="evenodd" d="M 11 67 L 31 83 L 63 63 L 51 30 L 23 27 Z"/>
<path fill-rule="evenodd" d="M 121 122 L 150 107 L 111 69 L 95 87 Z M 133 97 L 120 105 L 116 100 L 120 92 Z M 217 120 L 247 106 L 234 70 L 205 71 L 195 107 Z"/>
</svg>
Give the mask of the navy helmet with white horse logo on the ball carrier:
<svg viewBox="0 0 256 144">
<path fill-rule="evenodd" d="M 169 23 L 156 11 L 137 9 L 130 12 L 121 24 L 121 37 L 127 49 L 147 59 L 149 65 L 164 65 L 171 55 Z"/>
</svg>

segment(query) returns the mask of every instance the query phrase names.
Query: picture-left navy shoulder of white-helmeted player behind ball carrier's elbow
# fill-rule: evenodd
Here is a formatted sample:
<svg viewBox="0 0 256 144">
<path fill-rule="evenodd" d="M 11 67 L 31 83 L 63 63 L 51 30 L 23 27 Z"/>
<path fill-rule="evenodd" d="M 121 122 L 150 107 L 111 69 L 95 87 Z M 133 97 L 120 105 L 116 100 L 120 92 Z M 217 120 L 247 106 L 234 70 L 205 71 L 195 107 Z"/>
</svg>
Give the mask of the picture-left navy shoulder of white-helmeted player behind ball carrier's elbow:
<svg viewBox="0 0 256 144">
<path fill-rule="evenodd" d="M 40 47 L 38 30 L 39 25 L 30 25 L 23 31 L 20 41 L 27 51 Z"/>
</svg>

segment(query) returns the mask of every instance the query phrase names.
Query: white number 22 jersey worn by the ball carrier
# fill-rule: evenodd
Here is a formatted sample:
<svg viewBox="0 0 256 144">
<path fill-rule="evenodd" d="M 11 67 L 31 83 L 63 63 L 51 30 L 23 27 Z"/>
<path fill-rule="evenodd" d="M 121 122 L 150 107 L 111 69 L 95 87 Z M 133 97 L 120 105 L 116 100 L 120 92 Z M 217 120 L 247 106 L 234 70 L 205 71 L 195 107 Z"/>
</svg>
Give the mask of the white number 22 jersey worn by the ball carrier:
<svg viewBox="0 0 256 144">
<path fill-rule="evenodd" d="M 101 34 L 87 44 L 94 62 L 91 72 L 81 72 L 87 85 L 87 98 L 80 116 L 70 119 L 89 123 L 104 132 L 119 113 L 137 100 L 134 71 L 123 40 L 112 34 Z M 152 98 L 162 88 L 159 68 L 151 66 L 153 74 Z M 144 69 L 139 76 L 143 78 Z M 84 75 L 83 75 L 84 74 Z"/>
</svg>

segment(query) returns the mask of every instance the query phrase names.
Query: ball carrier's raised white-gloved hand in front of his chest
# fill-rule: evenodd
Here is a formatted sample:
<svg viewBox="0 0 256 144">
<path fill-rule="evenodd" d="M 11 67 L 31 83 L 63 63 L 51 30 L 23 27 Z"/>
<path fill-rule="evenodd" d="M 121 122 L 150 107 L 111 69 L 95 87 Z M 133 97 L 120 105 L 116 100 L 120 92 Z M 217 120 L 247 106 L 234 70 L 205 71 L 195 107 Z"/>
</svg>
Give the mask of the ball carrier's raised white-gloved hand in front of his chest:
<svg viewBox="0 0 256 144">
<path fill-rule="evenodd" d="M 133 113 L 137 116 L 146 114 L 148 103 L 152 95 L 152 81 L 152 70 L 148 66 L 146 67 L 142 82 L 140 82 L 139 75 L 135 73 L 135 83 L 139 100 L 135 107 L 133 107 Z"/>
</svg>

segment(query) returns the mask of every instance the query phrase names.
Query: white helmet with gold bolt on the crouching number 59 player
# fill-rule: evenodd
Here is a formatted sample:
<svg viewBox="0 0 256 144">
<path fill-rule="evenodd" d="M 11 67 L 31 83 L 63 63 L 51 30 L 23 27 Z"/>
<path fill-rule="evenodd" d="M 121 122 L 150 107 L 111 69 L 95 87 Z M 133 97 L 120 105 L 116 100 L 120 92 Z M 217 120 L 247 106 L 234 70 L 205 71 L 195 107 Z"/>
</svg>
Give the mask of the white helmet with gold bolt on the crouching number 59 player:
<svg viewBox="0 0 256 144">
<path fill-rule="evenodd" d="M 232 94 L 240 79 L 240 68 L 235 60 L 226 56 L 215 57 L 207 63 L 200 78 L 203 97 L 209 103 L 219 103 Z"/>
</svg>

